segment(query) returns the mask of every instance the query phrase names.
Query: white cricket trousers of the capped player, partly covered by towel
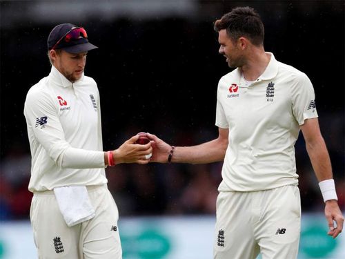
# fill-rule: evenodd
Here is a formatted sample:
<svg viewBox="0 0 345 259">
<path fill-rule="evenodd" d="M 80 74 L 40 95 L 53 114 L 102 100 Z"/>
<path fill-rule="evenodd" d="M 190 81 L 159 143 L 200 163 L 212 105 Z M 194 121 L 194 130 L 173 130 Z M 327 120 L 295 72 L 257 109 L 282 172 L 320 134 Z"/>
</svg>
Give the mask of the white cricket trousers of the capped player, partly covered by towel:
<svg viewBox="0 0 345 259">
<path fill-rule="evenodd" d="M 35 192 L 30 220 L 39 259 L 121 259 L 119 211 L 106 185 L 87 186 L 95 217 L 68 227 L 54 191 Z"/>
</svg>

